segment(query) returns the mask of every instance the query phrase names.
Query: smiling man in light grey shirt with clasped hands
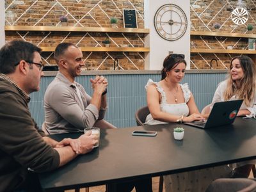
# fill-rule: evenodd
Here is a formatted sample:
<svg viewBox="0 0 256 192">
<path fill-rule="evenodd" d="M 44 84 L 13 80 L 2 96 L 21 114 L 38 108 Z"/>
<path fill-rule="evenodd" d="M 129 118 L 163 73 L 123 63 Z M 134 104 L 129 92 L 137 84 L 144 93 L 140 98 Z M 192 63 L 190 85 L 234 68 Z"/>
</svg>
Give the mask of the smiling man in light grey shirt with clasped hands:
<svg viewBox="0 0 256 192">
<path fill-rule="evenodd" d="M 106 88 L 103 76 L 90 79 L 92 97 L 75 81 L 84 67 L 83 53 L 74 44 L 61 43 L 54 52 L 59 72 L 47 87 L 44 96 L 45 125 L 50 134 L 83 132 L 86 127 L 115 128 L 104 118 L 107 109 Z"/>
</svg>

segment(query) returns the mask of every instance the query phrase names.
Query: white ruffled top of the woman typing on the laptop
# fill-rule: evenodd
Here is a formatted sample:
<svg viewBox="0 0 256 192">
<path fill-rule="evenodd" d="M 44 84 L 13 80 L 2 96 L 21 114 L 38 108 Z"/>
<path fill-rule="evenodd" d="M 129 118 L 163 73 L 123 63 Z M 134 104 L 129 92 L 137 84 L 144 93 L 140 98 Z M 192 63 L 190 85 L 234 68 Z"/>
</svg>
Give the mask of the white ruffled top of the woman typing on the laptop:
<svg viewBox="0 0 256 192">
<path fill-rule="evenodd" d="M 191 96 L 191 92 L 188 88 L 188 83 L 180 84 L 185 102 L 178 103 L 178 104 L 167 103 L 166 93 L 164 92 L 164 89 L 160 86 L 159 82 L 154 82 L 152 81 L 152 79 L 148 79 L 148 82 L 145 86 L 146 90 L 150 84 L 156 84 L 157 91 L 161 93 L 161 98 L 162 98 L 160 103 L 161 111 L 170 113 L 172 115 L 177 115 L 177 116 L 182 116 L 182 115 L 188 116 L 189 108 L 188 108 L 187 102 L 189 101 Z M 156 124 L 168 124 L 168 122 L 161 122 L 159 120 L 154 120 L 154 118 L 152 118 L 152 115 L 149 114 L 145 120 L 145 125 L 156 125 Z"/>
</svg>

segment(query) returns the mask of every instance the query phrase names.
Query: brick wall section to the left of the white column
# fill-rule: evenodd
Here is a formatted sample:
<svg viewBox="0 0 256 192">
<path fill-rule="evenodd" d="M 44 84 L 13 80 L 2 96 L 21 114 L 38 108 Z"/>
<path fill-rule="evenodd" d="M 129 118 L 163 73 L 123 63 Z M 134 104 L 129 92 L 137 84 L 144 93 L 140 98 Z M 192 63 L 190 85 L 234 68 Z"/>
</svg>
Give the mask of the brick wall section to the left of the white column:
<svg viewBox="0 0 256 192">
<path fill-rule="evenodd" d="M 6 25 L 15 26 L 61 26 L 61 15 L 67 15 L 68 26 L 110 28 L 109 17 L 118 19 L 118 28 L 123 28 L 122 9 L 136 9 L 138 28 L 144 28 L 143 0 L 49 0 L 5 1 Z M 15 19 L 8 17 L 12 11 Z M 79 47 L 102 45 L 102 40 L 111 38 L 110 47 L 144 47 L 144 35 L 134 33 L 84 33 L 56 31 L 6 31 L 6 40 L 24 39 L 40 47 L 56 47 L 61 42 L 73 42 Z M 115 44 L 115 43 L 117 44 Z M 99 45 L 100 44 L 100 45 Z M 143 52 L 83 52 L 87 70 L 105 70 L 113 67 L 118 58 L 124 69 L 144 69 Z M 55 65 L 52 52 L 42 53 L 46 65 Z M 136 65 L 136 67 L 135 67 Z"/>
</svg>

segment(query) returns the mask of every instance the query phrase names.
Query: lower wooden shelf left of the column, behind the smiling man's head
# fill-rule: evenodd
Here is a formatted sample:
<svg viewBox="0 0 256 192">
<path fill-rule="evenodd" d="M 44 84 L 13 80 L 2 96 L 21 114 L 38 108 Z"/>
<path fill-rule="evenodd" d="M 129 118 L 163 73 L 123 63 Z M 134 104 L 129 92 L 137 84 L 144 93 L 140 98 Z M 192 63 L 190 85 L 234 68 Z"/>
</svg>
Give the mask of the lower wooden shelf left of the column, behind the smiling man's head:
<svg viewBox="0 0 256 192">
<path fill-rule="evenodd" d="M 41 47 L 43 52 L 52 52 L 55 47 Z M 149 52 L 149 47 L 80 47 L 87 52 Z"/>
</svg>

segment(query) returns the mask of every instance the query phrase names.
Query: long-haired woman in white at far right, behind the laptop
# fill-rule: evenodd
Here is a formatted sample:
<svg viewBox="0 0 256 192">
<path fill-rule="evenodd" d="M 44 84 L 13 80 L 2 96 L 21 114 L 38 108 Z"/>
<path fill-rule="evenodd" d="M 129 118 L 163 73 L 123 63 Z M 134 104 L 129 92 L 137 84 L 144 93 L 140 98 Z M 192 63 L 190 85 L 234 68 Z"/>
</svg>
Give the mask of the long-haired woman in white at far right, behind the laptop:
<svg viewBox="0 0 256 192">
<path fill-rule="evenodd" d="M 236 56 L 231 60 L 230 75 L 222 81 L 212 99 L 215 102 L 243 99 L 237 116 L 254 117 L 256 115 L 256 68 L 248 56 Z M 209 116 L 209 114 L 208 114 Z M 255 161 L 244 161 L 232 164 L 235 169 L 234 177 L 248 177 Z M 231 166 L 231 165 L 230 165 Z"/>
</svg>

